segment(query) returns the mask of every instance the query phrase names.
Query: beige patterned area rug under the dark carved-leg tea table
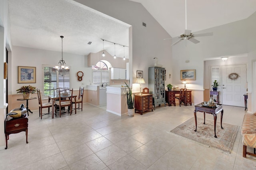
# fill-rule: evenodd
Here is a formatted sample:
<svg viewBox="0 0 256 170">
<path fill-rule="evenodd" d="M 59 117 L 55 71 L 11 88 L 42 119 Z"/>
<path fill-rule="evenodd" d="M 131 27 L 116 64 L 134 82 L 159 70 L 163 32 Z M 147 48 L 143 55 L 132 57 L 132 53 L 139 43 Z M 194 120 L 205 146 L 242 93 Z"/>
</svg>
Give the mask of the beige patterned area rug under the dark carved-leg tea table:
<svg viewBox="0 0 256 170">
<path fill-rule="evenodd" d="M 214 137 L 214 120 L 205 120 L 197 118 L 197 129 L 195 118 L 192 117 L 188 121 L 182 123 L 178 127 L 174 128 L 170 132 L 184 136 L 186 138 L 192 139 L 196 142 L 205 144 L 206 146 L 218 148 L 220 150 L 231 153 L 231 150 L 236 139 L 236 134 L 238 131 L 238 126 L 230 125 L 222 122 L 222 127 L 220 127 L 220 122 L 216 122 L 216 135 Z M 197 130 L 196 132 L 194 130 Z"/>
</svg>

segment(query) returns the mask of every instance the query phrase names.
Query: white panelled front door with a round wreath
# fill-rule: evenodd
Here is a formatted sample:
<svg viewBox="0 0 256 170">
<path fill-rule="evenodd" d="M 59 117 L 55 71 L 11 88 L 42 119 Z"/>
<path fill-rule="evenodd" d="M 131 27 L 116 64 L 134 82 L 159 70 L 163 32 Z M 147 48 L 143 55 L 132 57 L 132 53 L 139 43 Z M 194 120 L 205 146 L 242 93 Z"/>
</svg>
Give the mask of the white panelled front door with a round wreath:
<svg viewBox="0 0 256 170">
<path fill-rule="evenodd" d="M 230 79 L 231 73 L 237 73 L 237 79 Z M 233 76 L 235 77 L 235 76 Z M 246 93 L 246 65 L 222 66 L 222 104 L 244 107 Z"/>
</svg>

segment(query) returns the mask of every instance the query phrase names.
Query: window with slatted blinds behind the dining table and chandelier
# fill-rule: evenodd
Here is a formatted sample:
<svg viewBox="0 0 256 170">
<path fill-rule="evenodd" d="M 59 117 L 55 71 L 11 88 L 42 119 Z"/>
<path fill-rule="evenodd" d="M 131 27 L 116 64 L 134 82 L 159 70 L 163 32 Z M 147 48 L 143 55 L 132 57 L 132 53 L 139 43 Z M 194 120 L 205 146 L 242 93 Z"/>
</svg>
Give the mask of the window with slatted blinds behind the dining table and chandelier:
<svg viewBox="0 0 256 170">
<path fill-rule="evenodd" d="M 62 73 L 54 68 L 54 66 L 43 65 L 43 82 L 44 82 L 44 95 L 53 95 L 53 89 L 57 87 L 70 88 L 70 69 L 66 70 L 66 74 Z"/>
</svg>

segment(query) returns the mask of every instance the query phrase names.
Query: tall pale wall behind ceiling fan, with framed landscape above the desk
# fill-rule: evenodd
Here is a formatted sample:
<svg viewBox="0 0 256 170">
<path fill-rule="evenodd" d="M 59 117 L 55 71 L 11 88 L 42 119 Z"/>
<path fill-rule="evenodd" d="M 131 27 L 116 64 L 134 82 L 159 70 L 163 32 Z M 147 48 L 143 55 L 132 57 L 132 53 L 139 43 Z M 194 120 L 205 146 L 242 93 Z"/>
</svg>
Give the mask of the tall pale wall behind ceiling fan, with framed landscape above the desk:
<svg viewBox="0 0 256 170">
<path fill-rule="evenodd" d="M 204 81 L 204 73 L 207 72 L 207 70 L 204 70 L 204 60 L 244 53 L 248 54 L 248 60 L 246 58 L 243 63 L 251 63 L 252 60 L 256 59 L 255 52 L 252 52 L 255 51 L 256 43 L 250 40 L 256 36 L 253 31 L 255 30 L 255 15 L 256 13 L 245 20 L 196 32 L 195 34 L 213 32 L 213 36 L 196 38 L 200 43 L 194 44 L 190 41 L 182 41 L 172 46 L 173 63 L 175 63 L 172 65 L 174 85 L 180 85 L 181 83 L 180 70 L 196 69 L 196 81 L 190 81 L 190 87 L 191 89 L 203 90 L 204 82 L 208 83 L 208 81 Z M 253 25 L 252 28 L 254 29 L 251 28 L 251 25 Z M 186 60 L 190 62 L 185 63 Z M 220 62 L 218 65 L 220 65 L 222 61 L 218 61 Z M 226 61 L 226 63 L 228 62 Z M 208 68 L 206 67 L 206 69 Z M 251 68 L 249 67 L 248 69 L 251 72 Z M 251 75 L 248 76 L 248 82 L 252 83 Z M 209 85 L 206 84 L 206 86 L 208 87 Z M 248 87 L 251 89 L 250 86 Z"/>
</svg>

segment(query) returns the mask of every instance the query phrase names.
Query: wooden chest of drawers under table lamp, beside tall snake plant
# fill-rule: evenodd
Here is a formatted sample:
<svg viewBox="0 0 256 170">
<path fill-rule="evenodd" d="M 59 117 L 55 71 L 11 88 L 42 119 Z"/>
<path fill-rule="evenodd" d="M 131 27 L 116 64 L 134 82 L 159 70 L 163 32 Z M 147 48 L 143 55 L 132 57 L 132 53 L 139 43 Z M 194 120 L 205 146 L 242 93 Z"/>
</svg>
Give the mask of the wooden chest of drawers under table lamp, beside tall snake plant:
<svg viewBox="0 0 256 170">
<path fill-rule="evenodd" d="M 153 111 L 153 95 L 152 94 L 142 94 L 134 96 L 134 107 L 136 111 L 143 115 L 144 111 Z"/>
</svg>

